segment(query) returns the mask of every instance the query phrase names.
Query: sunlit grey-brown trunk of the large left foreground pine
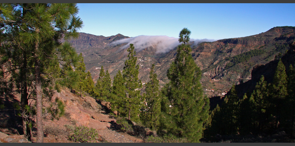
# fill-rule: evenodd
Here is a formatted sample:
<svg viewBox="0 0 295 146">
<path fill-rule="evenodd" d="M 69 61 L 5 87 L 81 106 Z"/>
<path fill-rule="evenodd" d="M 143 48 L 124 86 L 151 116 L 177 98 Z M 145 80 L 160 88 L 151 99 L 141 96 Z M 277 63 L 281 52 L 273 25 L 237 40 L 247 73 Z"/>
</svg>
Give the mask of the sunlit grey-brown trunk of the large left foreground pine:
<svg viewBox="0 0 295 146">
<path fill-rule="evenodd" d="M 42 124 L 42 91 L 41 91 L 41 73 L 40 73 L 40 61 L 38 60 L 37 51 L 38 46 L 37 43 L 35 45 L 36 52 L 35 52 L 35 82 L 36 82 L 36 121 L 37 121 L 37 141 L 36 142 L 43 142 L 43 124 Z"/>
</svg>

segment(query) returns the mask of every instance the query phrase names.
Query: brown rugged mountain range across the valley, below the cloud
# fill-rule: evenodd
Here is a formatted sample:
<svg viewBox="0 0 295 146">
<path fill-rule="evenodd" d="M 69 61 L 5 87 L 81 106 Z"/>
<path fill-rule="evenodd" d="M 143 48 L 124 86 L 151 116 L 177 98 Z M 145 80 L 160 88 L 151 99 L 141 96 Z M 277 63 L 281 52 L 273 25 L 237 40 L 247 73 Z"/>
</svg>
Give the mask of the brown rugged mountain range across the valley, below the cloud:
<svg viewBox="0 0 295 146">
<path fill-rule="evenodd" d="M 217 40 L 214 42 L 189 42 L 195 63 L 202 70 L 201 83 L 209 96 L 228 91 L 233 84 L 251 79 L 251 71 L 280 58 L 289 50 L 295 39 L 295 27 L 273 27 L 260 34 Z M 104 37 L 80 33 L 78 39 L 70 40 L 78 53 L 82 53 L 86 70 L 94 81 L 99 76 L 101 66 L 109 70 L 113 78 L 117 70 L 123 70 L 127 59 L 127 43 L 112 45 L 116 40 L 130 38 L 121 34 Z M 158 53 L 159 44 L 153 44 L 136 52 L 140 65 L 139 78 L 143 83 L 149 81 L 149 68 L 155 64 L 155 72 L 160 86 L 168 82 L 166 72 L 176 55 L 176 47 L 165 53 Z M 136 49 L 136 48 L 135 48 Z M 207 90 L 206 90 L 207 89 Z"/>
</svg>

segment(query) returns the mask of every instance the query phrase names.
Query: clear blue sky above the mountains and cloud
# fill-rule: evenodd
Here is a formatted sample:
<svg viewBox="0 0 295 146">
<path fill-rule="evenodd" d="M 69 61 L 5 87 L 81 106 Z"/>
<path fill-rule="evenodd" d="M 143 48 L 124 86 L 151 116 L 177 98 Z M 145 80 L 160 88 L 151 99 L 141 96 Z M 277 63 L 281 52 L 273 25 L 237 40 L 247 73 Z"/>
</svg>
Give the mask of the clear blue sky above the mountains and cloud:
<svg viewBox="0 0 295 146">
<path fill-rule="evenodd" d="M 191 39 L 226 39 L 256 35 L 276 26 L 295 26 L 295 4 L 101 4 L 78 3 L 80 32 L 105 37 L 178 38 L 182 28 Z"/>
</svg>

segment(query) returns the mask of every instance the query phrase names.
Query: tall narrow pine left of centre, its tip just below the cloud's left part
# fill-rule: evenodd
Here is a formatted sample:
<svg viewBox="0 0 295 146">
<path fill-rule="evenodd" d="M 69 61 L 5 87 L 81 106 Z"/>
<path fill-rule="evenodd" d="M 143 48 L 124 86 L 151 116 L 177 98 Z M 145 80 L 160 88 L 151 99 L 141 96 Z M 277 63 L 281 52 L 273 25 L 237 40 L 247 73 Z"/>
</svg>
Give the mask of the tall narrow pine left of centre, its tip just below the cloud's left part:
<svg viewBox="0 0 295 146">
<path fill-rule="evenodd" d="M 136 53 L 133 44 L 130 44 L 127 51 L 129 52 L 128 59 L 125 61 L 125 66 L 122 71 L 127 94 L 127 102 L 124 106 L 128 111 L 128 119 L 137 122 L 139 121 L 138 115 L 140 114 L 140 105 L 144 101 L 138 90 L 142 87 L 142 83 L 138 80 L 139 65 L 136 65 L 137 57 L 135 57 Z"/>
</svg>

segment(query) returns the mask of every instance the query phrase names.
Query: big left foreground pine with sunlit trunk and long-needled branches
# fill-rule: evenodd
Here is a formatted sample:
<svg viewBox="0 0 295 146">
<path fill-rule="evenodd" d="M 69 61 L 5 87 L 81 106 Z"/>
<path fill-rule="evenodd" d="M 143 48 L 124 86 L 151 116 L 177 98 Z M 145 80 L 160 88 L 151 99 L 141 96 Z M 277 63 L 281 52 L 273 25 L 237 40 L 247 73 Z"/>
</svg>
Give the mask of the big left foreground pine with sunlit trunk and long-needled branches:
<svg viewBox="0 0 295 146">
<path fill-rule="evenodd" d="M 2 9 L 2 6 L 13 9 Z M 45 68 L 48 68 L 47 60 L 61 59 L 57 57 L 59 53 L 56 52 L 56 48 L 61 45 L 59 40 L 62 37 L 77 36 L 76 31 L 81 28 L 82 21 L 76 17 L 76 4 L 1 4 L 1 12 L 5 12 L 1 14 L 1 33 L 11 36 L 8 44 L 23 50 L 24 58 L 30 57 L 32 61 L 32 64 L 27 65 L 33 68 L 35 75 L 37 142 L 43 142 L 42 87 L 53 82 L 47 81 L 42 85 L 41 74 L 50 77 L 50 73 L 44 72 Z M 8 13 L 11 15 L 6 15 Z M 25 87 L 23 89 L 25 92 Z"/>
</svg>

